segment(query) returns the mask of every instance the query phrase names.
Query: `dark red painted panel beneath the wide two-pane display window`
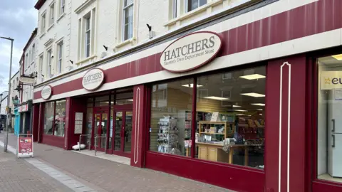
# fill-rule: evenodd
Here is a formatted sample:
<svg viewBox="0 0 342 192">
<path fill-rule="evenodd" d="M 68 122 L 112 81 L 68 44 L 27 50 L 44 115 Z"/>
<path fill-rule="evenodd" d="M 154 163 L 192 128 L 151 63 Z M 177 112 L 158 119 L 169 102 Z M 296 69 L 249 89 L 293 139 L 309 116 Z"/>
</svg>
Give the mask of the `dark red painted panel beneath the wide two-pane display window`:
<svg viewBox="0 0 342 192">
<path fill-rule="evenodd" d="M 234 191 L 264 191 L 264 172 L 242 166 L 214 164 L 182 156 L 146 153 L 146 168 L 175 174 Z"/>
</svg>

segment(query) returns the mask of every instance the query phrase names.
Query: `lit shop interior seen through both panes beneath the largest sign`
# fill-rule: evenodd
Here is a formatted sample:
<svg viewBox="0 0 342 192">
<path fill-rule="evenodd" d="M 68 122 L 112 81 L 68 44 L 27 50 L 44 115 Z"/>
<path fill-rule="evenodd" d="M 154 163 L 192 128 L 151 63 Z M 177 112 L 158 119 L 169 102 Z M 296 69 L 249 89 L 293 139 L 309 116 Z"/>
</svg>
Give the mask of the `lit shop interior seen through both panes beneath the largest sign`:
<svg viewBox="0 0 342 192">
<path fill-rule="evenodd" d="M 150 151 L 264 169 L 265 67 L 196 81 L 195 130 L 194 79 L 152 85 Z"/>
</svg>

